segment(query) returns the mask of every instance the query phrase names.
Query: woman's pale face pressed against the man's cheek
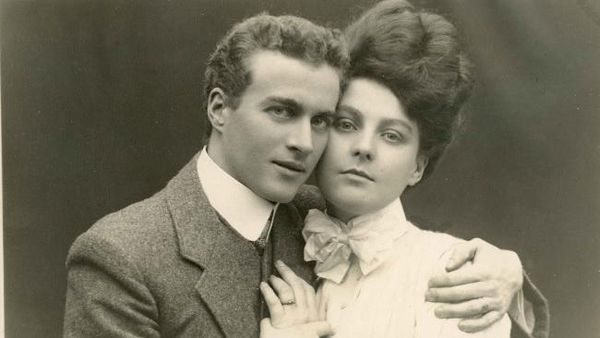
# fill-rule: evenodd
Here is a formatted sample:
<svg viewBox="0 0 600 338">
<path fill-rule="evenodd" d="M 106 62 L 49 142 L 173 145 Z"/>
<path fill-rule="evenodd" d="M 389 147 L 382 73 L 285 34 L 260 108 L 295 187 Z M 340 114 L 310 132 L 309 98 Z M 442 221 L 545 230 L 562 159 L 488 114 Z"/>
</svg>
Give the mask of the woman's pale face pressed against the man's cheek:
<svg viewBox="0 0 600 338">
<path fill-rule="evenodd" d="M 343 221 L 377 211 L 416 184 L 426 164 L 417 124 L 392 91 L 351 80 L 316 169 L 328 211 Z"/>
</svg>

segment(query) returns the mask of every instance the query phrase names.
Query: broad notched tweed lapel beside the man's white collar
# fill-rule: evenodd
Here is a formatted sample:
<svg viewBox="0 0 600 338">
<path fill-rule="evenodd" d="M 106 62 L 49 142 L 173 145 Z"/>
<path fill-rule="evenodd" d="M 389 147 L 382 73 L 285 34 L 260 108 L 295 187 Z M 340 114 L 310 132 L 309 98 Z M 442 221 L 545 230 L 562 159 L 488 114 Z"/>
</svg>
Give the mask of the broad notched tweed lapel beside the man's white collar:
<svg viewBox="0 0 600 338">
<path fill-rule="evenodd" d="M 203 269 L 196 290 L 228 337 L 256 335 L 260 265 L 252 244 L 219 220 L 202 191 L 198 154 L 167 186 L 179 251 Z"/>
</svg>

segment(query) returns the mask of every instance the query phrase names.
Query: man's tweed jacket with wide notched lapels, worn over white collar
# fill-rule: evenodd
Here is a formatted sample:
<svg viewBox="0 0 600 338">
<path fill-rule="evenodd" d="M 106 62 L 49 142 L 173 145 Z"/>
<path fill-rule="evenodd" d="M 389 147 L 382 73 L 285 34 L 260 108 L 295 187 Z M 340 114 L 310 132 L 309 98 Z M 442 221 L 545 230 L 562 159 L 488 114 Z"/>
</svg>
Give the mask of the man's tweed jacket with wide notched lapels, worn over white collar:
<svg viewBox="0 0 600 338">
<path fill-rule="evenodd" d="M 65 337 L 259 335 L 260 259 L 210 206 L 197 157 L 163 190 L 77 238 L 66 263 Z M 315 187 L 303 187 L 280 205 L 271 232 L 272 261 L 281 259 L 307 281 L 314 275 L 303 260 L 303 219 L 308 209 L 324 206 Z M 528 278 L 524 292 L 533 305 L 534 335 L 517 320 L 512 337 L 547 337 L 545 299 Z"/>
</svg>

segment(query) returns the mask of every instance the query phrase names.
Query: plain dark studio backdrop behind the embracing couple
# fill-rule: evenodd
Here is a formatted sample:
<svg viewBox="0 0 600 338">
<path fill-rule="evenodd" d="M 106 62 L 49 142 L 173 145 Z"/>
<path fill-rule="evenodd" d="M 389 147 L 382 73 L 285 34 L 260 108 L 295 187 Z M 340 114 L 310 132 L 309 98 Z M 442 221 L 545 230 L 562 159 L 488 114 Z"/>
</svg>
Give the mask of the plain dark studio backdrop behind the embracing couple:
<svg viewBox="0 0 600 338">
<path fill-rule="evenodd" d="M 434 229 L 516 250 L 553 337 L 600 332 L 600 4 L 420 1 L 477 64 L 468 124 L 405 199 Z M 200 149 L 202 78 L 240 19 L 345 26 L 366 1 L 3 1 L 7 337 L 58 337 L 67 251 Z"/>
</svg>

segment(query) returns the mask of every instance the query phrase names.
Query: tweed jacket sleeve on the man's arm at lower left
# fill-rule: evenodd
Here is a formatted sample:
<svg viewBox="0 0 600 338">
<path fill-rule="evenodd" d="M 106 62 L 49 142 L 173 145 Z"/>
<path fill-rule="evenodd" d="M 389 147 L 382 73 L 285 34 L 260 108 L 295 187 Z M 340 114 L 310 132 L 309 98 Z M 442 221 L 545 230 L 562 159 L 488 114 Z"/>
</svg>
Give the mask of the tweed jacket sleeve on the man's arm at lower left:
<svg viewBox="0 0 600 338">
<path fill-rule="evenodd" d="M 160 337 L 156 303 L 125 250 L 86 233 L 66 265 L 65 337 Z"/>
</svg>

